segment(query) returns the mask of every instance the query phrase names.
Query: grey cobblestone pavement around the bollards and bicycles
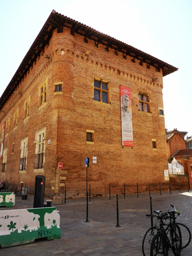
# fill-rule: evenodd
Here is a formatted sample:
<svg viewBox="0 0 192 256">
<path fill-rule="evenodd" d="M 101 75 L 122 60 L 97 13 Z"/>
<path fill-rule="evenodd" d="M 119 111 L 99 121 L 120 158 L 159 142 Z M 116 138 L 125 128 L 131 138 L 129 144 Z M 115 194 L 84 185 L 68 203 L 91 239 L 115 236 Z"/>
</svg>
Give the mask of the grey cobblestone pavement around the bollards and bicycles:
<svg viewBox="0 0 192 256">
<path fill-rule="evenodd" d="M 168 211 L 173 204 L 182 216 L 178 222 L 187 225 L 192 231 L 192 192 L 172 191 L 151 193 L 153 210 Z M 66 200 L 66 204 L 57 204 L 60 214 L 61 238 L 56 240 L 36 239 L 34 243 L 0 248 L 0 256 L 142 256 L 142 239 L 151 225 L 150 198 L 148 194 L 118 196 L 118 215 L 116 196 L 94 197 L 88 204 L 86 220 L 86 199 Z M 13 209 L 33 208 L 33 196 L 22 200 L 15 196 Z M 8 210 L 8 208 L 0 208 Z M 155 221 L 155 220 L 154 220 Z M 119 224 L 120 227 L 116 227 Z M 172 251 L 169 250 L 169 256 Z M 192 242 L 181 251 L 181 256 L 192 256 Z"/>
</svg>

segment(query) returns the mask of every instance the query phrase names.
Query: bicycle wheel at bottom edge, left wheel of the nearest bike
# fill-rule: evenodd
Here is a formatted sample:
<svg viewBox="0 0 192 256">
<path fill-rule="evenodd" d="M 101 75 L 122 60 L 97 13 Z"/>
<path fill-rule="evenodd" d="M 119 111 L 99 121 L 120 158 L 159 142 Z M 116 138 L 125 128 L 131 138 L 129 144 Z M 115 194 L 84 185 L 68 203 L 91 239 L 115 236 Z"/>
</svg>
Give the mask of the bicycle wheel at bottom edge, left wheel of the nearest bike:
<svg viewBox="0 0 192 256">
<path fill-rule="evenodd" d="M 168 256 L 167 242 L 162 233 L 157 233 L 151 242 L 150 256 Z"/>
</svg>

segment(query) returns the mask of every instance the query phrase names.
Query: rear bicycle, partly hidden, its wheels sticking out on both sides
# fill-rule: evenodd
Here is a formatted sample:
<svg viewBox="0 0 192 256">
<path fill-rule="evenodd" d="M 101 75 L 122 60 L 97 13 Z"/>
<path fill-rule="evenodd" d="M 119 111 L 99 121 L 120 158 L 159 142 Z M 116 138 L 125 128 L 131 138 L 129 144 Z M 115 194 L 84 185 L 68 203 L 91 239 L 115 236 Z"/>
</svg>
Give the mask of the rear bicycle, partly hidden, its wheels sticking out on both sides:
<svg viewBox="0 0 192 256">
<path fill-rule="evenodd" d="M 175 206 L 173 206 L 171 204 L 171 206 L 174 208 L 175 213 L 178 214 L 178 216 L 181 216 L 180 212 L 176 209 Z M 160 211 L 156 211 L 156 213 L 159 215 L 159 213 L 162 212 Z M 154 215 L 150 215 L 150 214 L 146 214 L 147 217 L 154 217 Z M 175 216 L 173 216 L 175 217 Z M 179 222 L 175 222 L 175 219 L 172 219 L 173 223 L 172 224 L 177 224 L 180 227 L 180 231 L 181 231 L 181 237 L 182 237 L 182 247 L 181 249 L 184 249 L 188 246 L 188 244 L 191 241 L 191 232 L 189 230 L 189 228 Z M 143 237 L 143 241 L 142 241 L 142 252 L 143 252 L 143 256 L 150 256 L 150 247 L 151 247 L 151 241 L 153 239 L 153 237 L 156 235 L 157 233 L 157 229 L 159 228 L 159 222 L 158 222 L 158 218 L 156 219 L 156 224 L 149 228 L 147 230 L 147 232 L 145 233 L 144 237 Z M 169 232 L 169 229 L 167 227 L 167 234 Z"/>
</svg>

